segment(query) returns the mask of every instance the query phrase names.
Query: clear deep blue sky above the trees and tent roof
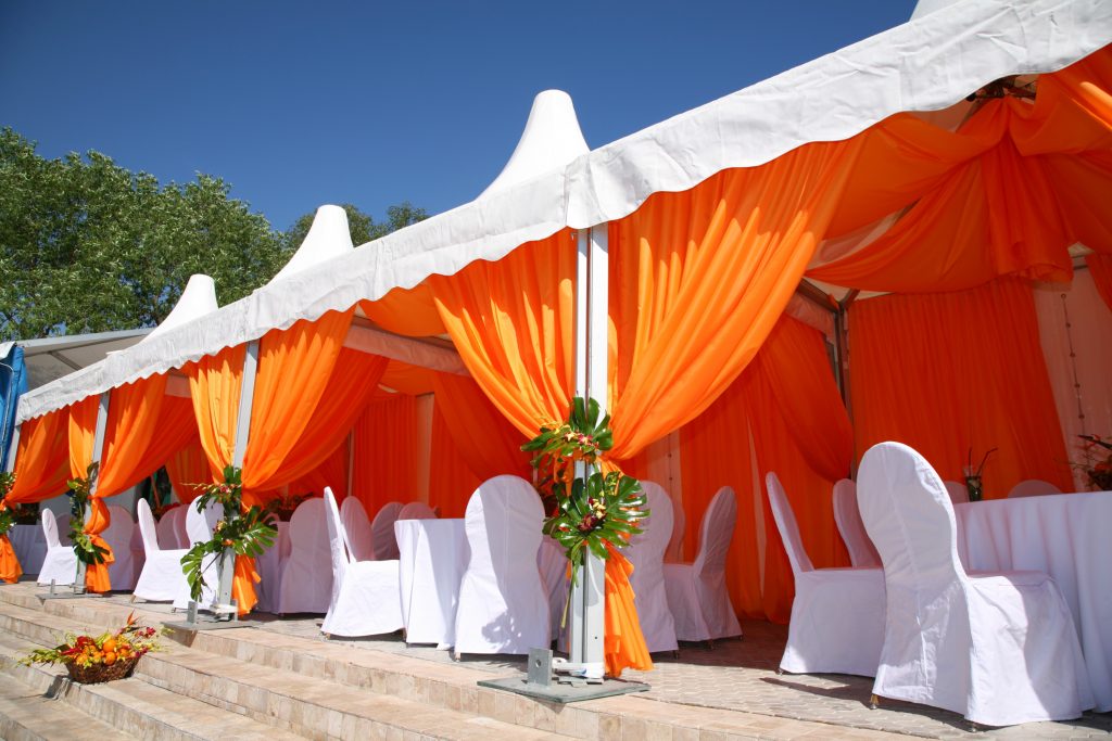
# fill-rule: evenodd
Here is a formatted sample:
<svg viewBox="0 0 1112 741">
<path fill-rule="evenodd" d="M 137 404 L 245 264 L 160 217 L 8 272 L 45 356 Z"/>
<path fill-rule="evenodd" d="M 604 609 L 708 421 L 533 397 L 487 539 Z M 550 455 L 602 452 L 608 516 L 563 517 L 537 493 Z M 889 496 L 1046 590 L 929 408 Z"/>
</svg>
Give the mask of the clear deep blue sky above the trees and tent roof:
<svg viewBox="0 0 1112 741">
<path fill-rule="evenodd" d="M 904 22 L 914 0 L 87 2 L 0 0 L 0 126 L 197 172 L 279 229 L 475 198 L 533 96 L 598 147 Z"/>
</svg>

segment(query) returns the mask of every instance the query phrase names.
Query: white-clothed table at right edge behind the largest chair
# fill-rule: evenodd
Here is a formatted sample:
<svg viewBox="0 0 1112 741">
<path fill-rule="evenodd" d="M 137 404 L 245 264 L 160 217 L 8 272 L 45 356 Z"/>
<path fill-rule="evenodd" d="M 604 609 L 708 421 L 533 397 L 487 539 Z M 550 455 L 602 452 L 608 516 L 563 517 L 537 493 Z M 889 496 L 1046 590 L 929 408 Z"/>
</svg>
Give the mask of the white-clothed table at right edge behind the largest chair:
<svg viewBox="0 0 1112 741">
<path fill-rule="evenodd" d="M 996 499 L 954 507 L 974 571 L 1042 571 L 1081 639 L 1096 710 L 1112 710 L 1112 492 Z"/>
</svg>

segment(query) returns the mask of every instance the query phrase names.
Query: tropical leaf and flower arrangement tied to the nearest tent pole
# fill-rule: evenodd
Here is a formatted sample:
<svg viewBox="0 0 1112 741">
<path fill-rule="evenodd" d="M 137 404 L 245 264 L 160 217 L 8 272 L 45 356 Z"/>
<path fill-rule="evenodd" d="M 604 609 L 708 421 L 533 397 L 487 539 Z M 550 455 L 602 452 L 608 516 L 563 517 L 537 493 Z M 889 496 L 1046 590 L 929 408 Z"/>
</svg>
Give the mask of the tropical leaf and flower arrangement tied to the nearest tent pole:
<svg viewBox="0 0 1112 741">
<path fill-rule="evenodd" d="M 602 454 L 614 444 L 609 415 L 599 420 L 598 402 L 576 398 L 568 421 L 542 428 L 522 447 L 536 453 L 537 488 L 554 500 L 544 532 L 558 542 L 572 562 L 573 583 L 587 551 L 609 558 L 607 544 L 623 548 L 641 532 L 637 522 L 648 517 L 641 482 L 620 471 L 602 471 Z M 575 464 L 583 463 L 583 477 Z"/>
</svg>

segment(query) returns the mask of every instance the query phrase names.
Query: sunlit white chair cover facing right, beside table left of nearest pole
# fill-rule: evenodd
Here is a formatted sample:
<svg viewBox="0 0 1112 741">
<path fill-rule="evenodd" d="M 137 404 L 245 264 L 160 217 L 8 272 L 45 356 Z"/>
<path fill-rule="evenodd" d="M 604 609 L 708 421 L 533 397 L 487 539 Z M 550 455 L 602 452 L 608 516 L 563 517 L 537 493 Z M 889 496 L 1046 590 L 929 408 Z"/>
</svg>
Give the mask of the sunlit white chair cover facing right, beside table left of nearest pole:
<svg viewBox="0 0 1112 741">
<path fill-rule="evenodd" d="M 332 579 L 331 599 L 320 632 L 355 637 L 398 630 L 401 628 L 398 562 L 353 560 L 336 498 L 327 487 L 324 504 Z"/>
</svg>

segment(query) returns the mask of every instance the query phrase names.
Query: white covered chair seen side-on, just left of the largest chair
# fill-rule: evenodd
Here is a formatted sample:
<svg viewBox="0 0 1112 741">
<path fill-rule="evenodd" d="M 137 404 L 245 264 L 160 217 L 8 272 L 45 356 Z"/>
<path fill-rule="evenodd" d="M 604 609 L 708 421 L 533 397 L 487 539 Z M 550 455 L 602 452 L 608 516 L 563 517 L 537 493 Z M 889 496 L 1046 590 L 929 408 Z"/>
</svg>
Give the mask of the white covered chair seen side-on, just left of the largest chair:
<svg viewBox="0 0 1112 741">
<path fill-rule="evenodd" d="M 795 601 L 783 671 L 875 677 L 884 641 L 884 572 L 815 569 L 800 538 L 787 494 L 775 473 L 765 477 L 768 504 L 795 578 Z"/>
</svg>

